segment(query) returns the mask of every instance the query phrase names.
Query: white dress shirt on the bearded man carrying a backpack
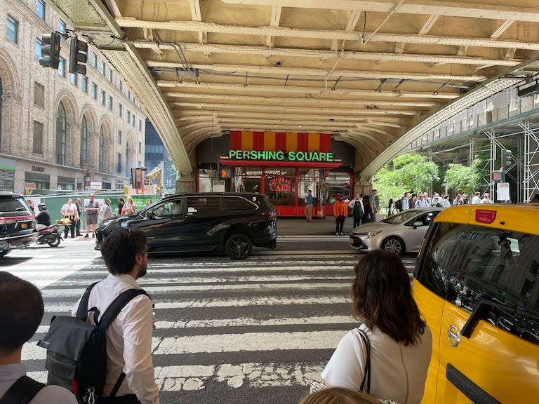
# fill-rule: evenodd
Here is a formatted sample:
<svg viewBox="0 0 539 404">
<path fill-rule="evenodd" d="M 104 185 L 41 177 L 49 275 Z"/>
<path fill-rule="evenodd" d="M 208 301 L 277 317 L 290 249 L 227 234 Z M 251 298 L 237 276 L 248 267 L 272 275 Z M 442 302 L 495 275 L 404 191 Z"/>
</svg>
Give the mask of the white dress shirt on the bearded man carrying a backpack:
<svg viewBox="0 0 539 404">
<path fill-rule="evenodd" d="M 102 316 L 112 301 L 128 289 L 140 289 L 131 275 L 109 274 L 93 287 L 88 307 L 97 307 Z M 72 309 L 73 316 L 79 302 Z M 105 395 L 112 391 L 123 370 L 126 379 L 117 396 L 136 394 L 142 404 L 159 404 L 159 389 L 155 384 L 152 364 L 152 322 L 152 300 L 140 295 L 131 299 L 107 328 Z"/>
</svg>

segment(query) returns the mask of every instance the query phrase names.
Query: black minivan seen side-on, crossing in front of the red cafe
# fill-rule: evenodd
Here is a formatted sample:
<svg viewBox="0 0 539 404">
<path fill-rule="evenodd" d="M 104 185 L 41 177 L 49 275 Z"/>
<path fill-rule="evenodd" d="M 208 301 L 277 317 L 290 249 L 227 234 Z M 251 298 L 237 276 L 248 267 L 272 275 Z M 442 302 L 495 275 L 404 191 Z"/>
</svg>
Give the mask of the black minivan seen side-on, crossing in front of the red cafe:
<svg viewBox="0 0 539 404">
<path fill-rule="evenodd" d="M 253 245 L 277 247 L 277 215 L 262 194 L 167 196 L 140 212 L 102 222 L 95 230 L 96 249 L 117 227 L 144 231 L 150 254 L 225 251 L 233 260 L 243 260 Z"/>
</svg>

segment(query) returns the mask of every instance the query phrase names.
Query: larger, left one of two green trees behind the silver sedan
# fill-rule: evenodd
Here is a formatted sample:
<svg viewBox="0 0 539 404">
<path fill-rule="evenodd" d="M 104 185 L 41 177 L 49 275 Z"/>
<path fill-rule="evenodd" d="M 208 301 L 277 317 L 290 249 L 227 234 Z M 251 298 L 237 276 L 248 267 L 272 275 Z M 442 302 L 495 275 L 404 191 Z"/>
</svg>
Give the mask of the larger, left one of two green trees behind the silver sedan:
<svg viewBox="0 0 539 404">
<path fill-rule="evenodd" d="M 378 189 L 380 206 L 384 208 L 390 198 L 401 198 L 407 191 L 428 191 L 436 180 L 439 180 L 436 163 L 420 154 L 401 154 L 375 174 L 373 187 Z"/>
</svg>

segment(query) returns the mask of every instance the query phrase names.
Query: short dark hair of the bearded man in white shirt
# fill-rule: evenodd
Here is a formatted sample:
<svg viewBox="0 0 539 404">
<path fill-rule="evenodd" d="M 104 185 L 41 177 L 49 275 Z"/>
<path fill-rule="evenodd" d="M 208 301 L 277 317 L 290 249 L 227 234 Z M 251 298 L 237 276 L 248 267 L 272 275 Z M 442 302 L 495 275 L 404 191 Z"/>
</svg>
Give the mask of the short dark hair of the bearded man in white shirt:
<svg viewBox="0 0 539 404">
<path fill-rule="evenodd" d="M 135 255 L 146 249 L 146 234 L 138 229 L 116 229 L 101 243 L 101 255 L 112 275 L 133 271 Z"/>
</svg>

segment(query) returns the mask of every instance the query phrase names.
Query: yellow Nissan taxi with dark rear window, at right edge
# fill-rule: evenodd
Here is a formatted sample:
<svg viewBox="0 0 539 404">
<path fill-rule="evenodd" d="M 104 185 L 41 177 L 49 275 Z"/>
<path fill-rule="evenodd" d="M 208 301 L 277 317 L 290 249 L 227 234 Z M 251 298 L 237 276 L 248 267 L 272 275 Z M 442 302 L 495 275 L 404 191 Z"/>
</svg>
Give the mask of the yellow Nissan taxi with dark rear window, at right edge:
<svg viewBox="0 0 539 404">
<path fill-rule="evenodd" d="M 432 330 L 422 403 L 539 402 L 539 203 L 439 213 L 413 295 Z"/>
</svg>

